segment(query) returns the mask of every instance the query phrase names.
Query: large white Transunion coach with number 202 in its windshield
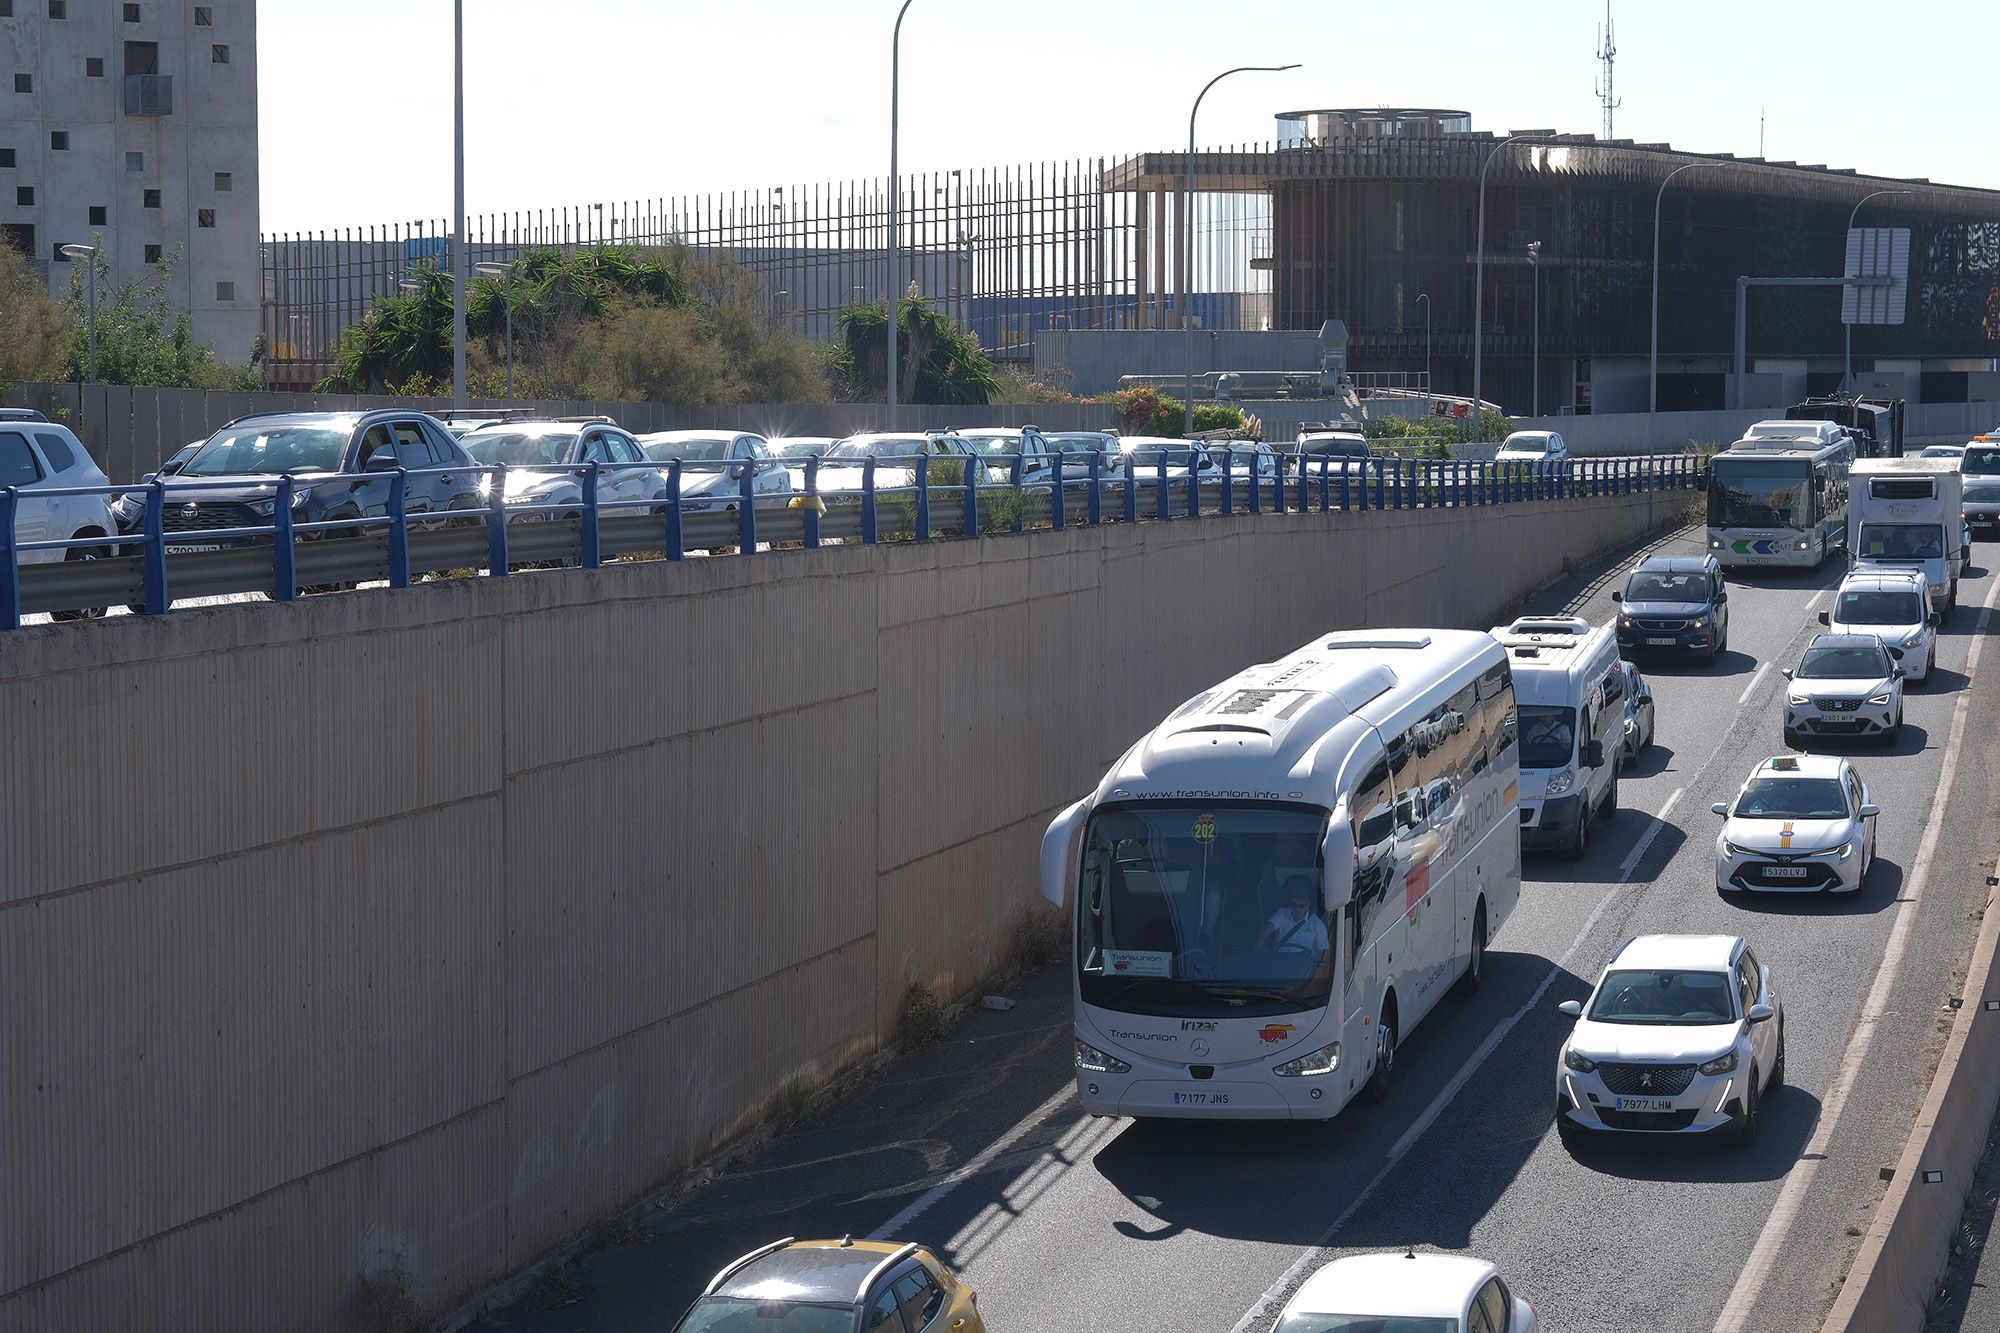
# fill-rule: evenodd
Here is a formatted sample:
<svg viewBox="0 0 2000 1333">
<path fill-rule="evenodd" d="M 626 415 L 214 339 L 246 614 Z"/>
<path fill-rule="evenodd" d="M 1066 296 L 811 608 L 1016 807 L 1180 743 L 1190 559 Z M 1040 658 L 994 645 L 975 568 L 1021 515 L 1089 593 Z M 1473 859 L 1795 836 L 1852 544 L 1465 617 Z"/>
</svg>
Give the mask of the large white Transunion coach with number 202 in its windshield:
<svg viewBox="0 0 2000 1333">
<path fill-rule="evenodd" d="M 1326 634 L 1176 709 L 1042 841 L 1092 1115 L 1326 1119 L 1520 899 L 1506 650 Z"/>
</svg>

